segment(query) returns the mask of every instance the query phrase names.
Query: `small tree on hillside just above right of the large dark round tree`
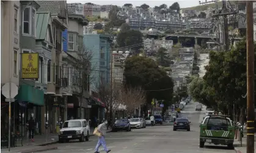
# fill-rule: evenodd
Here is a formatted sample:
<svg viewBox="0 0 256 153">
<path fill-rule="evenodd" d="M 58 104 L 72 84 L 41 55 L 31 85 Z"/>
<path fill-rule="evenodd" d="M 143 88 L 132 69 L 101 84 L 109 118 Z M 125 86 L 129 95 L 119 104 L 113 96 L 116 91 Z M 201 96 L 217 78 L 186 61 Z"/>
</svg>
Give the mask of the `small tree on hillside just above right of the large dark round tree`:
<svg viewBox="0 0 256 153">
<path fill-rule="evenodd" d="M 158 52 L 156 53 L 156 57 L 158 59 L 156 60 L 158 62 L 158 65 L 164 66 L 164 67 L 169 67 L 171 60 L 169 57 L 169 54 L 167 53 L 166 48 L 159 48 Z"/>
</svg>

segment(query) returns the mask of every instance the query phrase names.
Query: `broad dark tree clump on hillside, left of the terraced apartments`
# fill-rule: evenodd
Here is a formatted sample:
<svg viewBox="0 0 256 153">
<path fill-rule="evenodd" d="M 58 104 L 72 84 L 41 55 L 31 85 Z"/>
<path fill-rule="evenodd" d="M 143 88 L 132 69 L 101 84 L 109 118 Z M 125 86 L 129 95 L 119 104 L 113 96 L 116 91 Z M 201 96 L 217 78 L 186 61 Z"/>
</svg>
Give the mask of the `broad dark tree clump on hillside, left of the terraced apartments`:
<svg viewBox="0 0 256 153">
<path fill-rule="evenodd" d="M 117 44 L 119 44 L 120 48 L 138 44 L 132 47 L 132 49 L 136 51 L 143 48 L 142 43 L 143 43 L 143 35 L 138 30 L 128 30 L 126 32 L 120 32 L 117 35 Z"/>
</svg>

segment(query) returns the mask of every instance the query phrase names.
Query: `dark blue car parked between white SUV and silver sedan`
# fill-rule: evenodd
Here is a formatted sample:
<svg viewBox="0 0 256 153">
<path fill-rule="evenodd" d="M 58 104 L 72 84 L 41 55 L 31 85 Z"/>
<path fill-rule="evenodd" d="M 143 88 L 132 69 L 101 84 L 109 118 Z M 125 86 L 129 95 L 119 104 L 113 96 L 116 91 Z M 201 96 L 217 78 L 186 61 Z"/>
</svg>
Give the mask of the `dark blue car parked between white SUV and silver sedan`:
<svg viewBox="0 0 256 153">
<path fill-rule="evenodd" d="M 116 119 L 112 126 L 112 131 L 116 132 L 119 130 L 131 131 L 131 124 L 128 119 Z"/>
</svg>

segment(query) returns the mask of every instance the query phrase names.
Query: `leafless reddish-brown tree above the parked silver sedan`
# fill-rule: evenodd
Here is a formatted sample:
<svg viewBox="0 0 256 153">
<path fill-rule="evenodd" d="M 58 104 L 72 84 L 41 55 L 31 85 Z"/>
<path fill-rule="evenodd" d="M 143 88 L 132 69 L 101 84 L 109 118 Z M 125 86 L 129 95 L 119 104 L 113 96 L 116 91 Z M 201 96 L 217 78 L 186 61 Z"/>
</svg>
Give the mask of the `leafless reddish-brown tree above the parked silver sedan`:
<svg viewBox="0 0 256 153">
<path fill-rule="evenodd" d="M 122 102 L 126 106 L 126 115 L 132 115 L 135 109 L 145 103 L 145 91 L 142 88 L 123 88 Z"/>
</svg>

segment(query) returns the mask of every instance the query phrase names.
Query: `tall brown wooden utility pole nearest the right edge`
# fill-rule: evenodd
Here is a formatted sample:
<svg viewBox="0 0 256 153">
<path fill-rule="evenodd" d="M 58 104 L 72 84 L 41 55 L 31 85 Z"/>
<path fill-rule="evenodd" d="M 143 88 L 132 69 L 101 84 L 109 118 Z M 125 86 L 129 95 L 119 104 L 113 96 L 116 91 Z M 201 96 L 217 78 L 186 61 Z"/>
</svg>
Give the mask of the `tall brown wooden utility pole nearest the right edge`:
<svg viewBox="0 0 256 153">
<path fill-rule="evenodd" d="M 253 1 L 246 1 L 247 43 L 247 153 L 254 153 L 254 40 Z"/>
</svg>

